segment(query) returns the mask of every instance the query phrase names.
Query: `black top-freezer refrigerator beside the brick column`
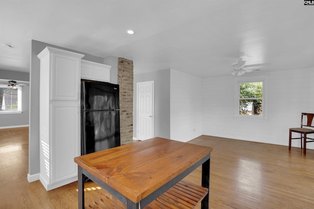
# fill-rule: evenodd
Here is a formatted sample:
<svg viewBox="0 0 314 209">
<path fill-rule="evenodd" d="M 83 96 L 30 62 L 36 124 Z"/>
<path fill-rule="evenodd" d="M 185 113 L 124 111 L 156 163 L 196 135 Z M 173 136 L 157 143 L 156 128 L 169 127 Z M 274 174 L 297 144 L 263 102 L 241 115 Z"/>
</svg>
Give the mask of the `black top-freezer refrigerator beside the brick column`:
<svg viewBox="0 0 314 209">
<path fill-rule="evenodd" d="M 119 85 L 81 81 L 81 155 L 120 146 Z"/>
</svg>

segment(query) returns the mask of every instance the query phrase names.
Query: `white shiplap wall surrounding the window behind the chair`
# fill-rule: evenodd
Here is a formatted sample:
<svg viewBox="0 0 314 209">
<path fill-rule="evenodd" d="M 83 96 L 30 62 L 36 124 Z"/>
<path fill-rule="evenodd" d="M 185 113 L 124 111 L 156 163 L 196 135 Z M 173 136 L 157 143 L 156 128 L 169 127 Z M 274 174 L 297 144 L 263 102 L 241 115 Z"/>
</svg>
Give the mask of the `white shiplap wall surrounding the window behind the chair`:
<svg viewBox="0 0 314 209">
<path fill-rule="evenodd" d="M 300 126 L 302 112 L 314 113 L 314 68 L 269 72 L 268 120 L 233 117 L 233 76 L 204 78 L 203 99 L 204 135 L 288 145 L 288 128 Z"/>
</svg>

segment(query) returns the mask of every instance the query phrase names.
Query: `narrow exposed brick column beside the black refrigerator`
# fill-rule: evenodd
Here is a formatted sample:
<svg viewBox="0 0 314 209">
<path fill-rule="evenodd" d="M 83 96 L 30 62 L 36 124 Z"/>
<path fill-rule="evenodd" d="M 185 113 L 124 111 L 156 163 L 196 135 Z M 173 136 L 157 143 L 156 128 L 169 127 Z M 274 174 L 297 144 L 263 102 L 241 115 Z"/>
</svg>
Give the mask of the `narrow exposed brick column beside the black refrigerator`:
<svg viewBox="0 0 314 209">
<path fill-rule="evenodd" d="M 121 145 L 133 142 L 133 61 L 119 57 Z"/>
</svg>

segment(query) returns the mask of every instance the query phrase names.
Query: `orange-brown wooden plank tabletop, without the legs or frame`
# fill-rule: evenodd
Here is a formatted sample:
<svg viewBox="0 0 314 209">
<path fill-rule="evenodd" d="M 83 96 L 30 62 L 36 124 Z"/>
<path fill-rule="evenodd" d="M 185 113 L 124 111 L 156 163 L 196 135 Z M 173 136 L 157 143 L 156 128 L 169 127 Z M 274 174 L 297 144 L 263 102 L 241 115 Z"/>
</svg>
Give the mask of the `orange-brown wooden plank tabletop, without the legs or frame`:
<svg viewBox="0 0 314 209">
<path fill-rule="evenodd" d="M 211 151 L 211 147 L 153 138 L 79 156 L 74 161 L 137 203 Z"/>
</svg>

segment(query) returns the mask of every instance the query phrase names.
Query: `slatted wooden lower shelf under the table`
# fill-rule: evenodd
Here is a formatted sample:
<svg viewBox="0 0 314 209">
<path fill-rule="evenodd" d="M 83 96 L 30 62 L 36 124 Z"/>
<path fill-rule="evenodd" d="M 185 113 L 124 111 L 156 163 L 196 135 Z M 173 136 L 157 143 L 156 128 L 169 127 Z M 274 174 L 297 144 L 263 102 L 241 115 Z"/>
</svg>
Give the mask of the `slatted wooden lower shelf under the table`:
<svg viewBox="0 0 314 209">
<path fill-rule="evenodd" d="M 208 194 L 208 188 L 180 181 L 148 204 L 144 209 L 195 209 Z M 125 209 L 126 205 L 113 196 L 85 201 L 85 209 Z"/>
</svg>

